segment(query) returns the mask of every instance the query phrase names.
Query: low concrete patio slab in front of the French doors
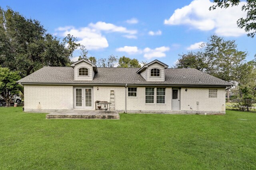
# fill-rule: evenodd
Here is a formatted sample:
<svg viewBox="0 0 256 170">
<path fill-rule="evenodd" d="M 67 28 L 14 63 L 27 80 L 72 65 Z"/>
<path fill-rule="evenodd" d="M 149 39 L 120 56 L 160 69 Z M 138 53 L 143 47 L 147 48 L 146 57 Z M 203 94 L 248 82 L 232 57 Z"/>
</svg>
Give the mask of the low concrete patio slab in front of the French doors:
<svg viewBox="0 0 256 170">
<path fill-rule="evenodd" d="M 46 115 L 46 119 L 120 119 L 120 115 L 112 110 L 64 109 Z"/>
</svg>

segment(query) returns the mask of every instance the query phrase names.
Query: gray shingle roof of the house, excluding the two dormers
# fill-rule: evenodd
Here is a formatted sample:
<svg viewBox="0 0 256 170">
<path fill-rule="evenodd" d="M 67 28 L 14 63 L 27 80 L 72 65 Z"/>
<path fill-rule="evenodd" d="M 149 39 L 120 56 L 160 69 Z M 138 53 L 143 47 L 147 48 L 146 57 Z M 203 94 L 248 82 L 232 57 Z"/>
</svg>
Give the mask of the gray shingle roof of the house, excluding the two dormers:
<svg viewBox="0 0 256 170">
<path fill-rule="evenodd" d="M 140 68 L 98 68 L 92 81 L 74 80 L 72 67 L 43 67 L 18 80 L 20 83 L 53 84 L 158 84 L 186 86 L 231 86 L 232 84 L 194 68 L 167 68 L 164 82 L 147 82 L 136 73 Z"/>
</svg>

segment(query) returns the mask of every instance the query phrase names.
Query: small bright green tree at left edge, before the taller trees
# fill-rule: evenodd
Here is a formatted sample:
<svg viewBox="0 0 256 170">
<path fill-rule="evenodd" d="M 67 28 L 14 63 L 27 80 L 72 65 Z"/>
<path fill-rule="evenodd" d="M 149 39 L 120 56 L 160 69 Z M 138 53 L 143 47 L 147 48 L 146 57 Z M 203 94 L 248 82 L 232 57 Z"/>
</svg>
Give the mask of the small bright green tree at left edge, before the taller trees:
<svg viewBox="0 0 256 170">
<path fill-rule="evenodd" d="M 6 106 L 10 106 L 12 97 L 22 89 L 22 86 L 16 83 L 19 79 L 18 72 L 0 67 L 0 94 L 6 102 Z"/>
</svg>

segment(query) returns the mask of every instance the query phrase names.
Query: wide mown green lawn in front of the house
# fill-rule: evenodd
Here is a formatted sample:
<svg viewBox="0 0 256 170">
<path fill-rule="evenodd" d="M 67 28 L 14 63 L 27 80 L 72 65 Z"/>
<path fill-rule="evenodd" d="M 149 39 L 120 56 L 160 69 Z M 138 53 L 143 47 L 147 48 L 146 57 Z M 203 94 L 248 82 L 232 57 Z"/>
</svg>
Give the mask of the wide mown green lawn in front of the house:
<svg viewBox="0 0 256 170">
<path fill-rule="evenodd" d="M 45 115 L 0 107 L 0 169 L 256 169 L 256 113 Z"/>
</svg>

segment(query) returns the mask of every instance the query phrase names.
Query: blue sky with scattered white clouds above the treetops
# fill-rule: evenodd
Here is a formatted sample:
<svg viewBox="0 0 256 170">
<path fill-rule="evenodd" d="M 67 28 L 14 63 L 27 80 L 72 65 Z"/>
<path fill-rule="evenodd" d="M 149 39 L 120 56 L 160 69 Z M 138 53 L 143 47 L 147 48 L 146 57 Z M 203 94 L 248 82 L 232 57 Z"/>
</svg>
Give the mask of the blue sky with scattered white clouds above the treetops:
<svg viewBox="0 0 256 170">
<path fill-rule="evenodd" d="M 178 54 L 197 50 L 215 33 L 235 39 L 239 50 L 248 51 L 247 60 L 254 59 L 256 37 L 247 37 L 236 26 L 245 16 L 242 4 L 208 11 L 211 5 L 210 0 L 0 0 L 1 7 L 41 21 L 59 38 L 73 34 L 96 58 L 125 55 L 172 66 Z"/>
</svg>

